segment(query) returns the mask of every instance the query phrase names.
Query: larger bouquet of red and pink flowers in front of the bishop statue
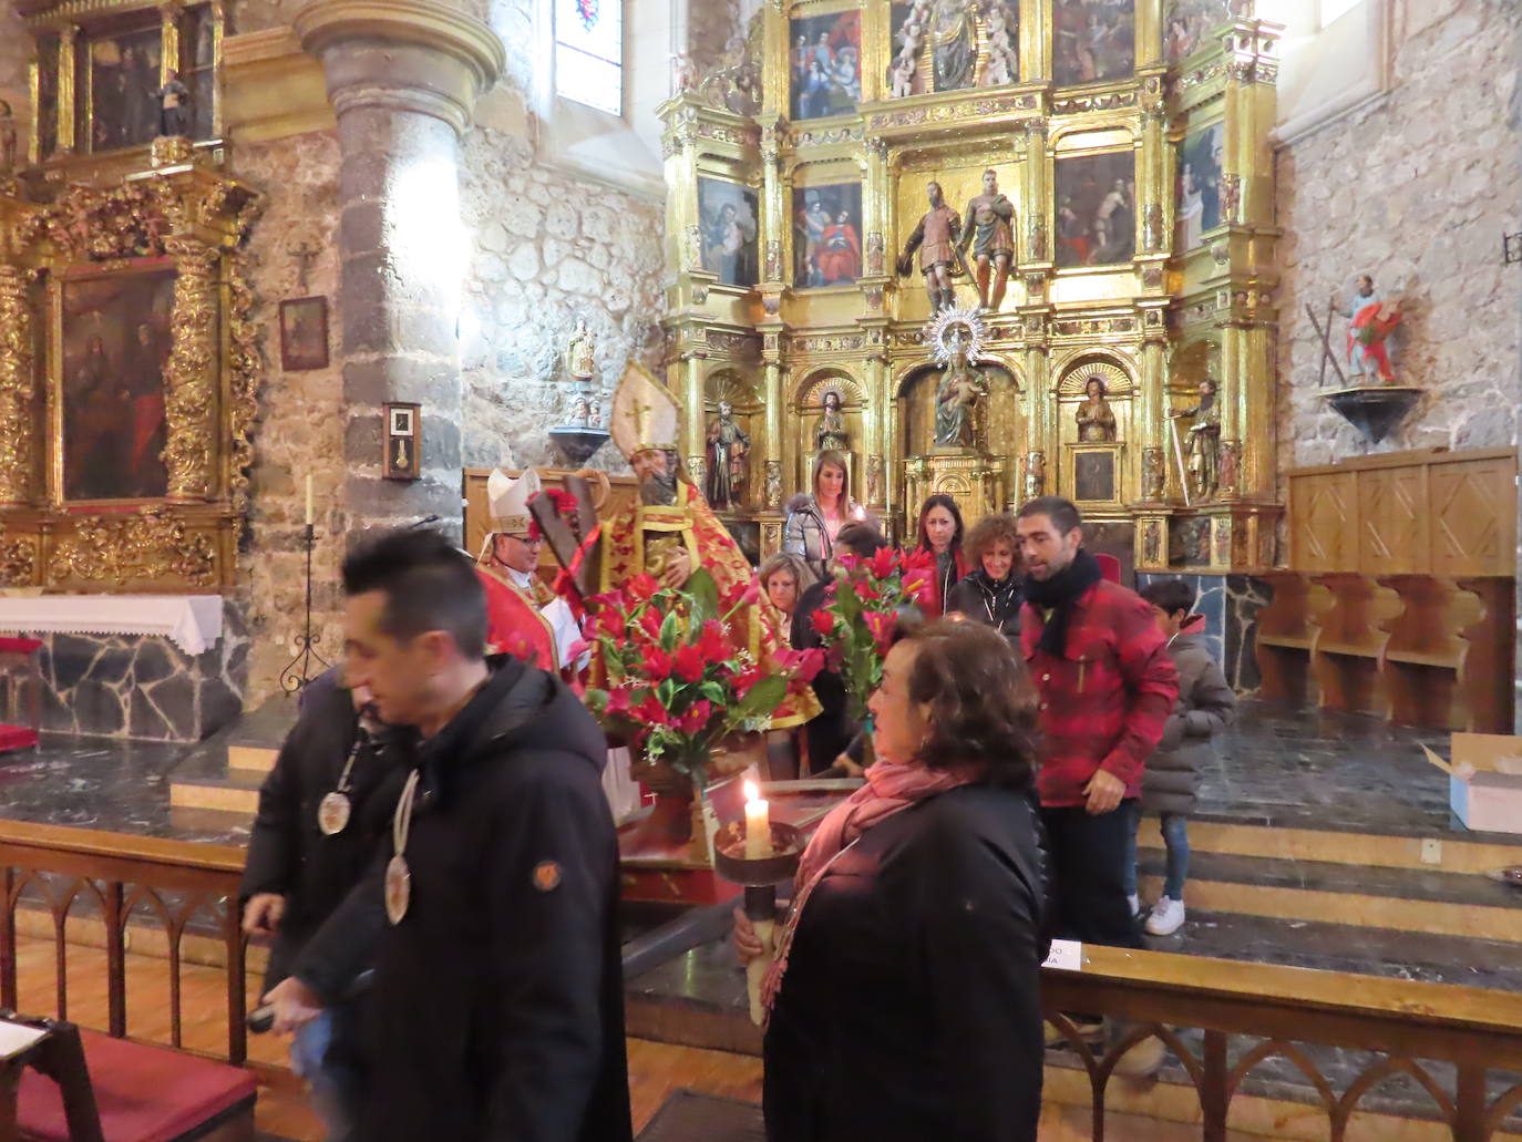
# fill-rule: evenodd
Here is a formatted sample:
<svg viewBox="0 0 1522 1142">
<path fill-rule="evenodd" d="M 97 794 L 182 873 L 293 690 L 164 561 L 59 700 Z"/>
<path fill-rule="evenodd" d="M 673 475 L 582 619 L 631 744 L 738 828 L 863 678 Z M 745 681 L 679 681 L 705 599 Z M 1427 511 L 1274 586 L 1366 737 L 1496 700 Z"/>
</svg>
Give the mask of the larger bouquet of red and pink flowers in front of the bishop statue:
<svg viewBox="0 0 1522 1142">
<path fill-rule="evenodd" d="M 607 685 L 586 691 L 592 713 L 651 763 L 664 761 L 702 789 L 714 749 L 766 729 L 823 665 L 819 650 L 756 661 L 744 612 L 758 598 L 755 579 L 721 598 L 714 577 L 699 568 L 680 589 L 635 576 L 622 591 L 587 600 L 587 633 Z"/>
</svg>

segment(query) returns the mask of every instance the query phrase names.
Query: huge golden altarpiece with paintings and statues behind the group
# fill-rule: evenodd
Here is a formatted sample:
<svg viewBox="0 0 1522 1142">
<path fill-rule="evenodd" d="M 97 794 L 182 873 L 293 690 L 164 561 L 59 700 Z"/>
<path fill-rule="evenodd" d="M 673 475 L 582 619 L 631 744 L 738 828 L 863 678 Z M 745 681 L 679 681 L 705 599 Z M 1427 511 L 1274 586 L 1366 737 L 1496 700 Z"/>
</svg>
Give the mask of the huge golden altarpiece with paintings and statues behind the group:
<svg viewBox="0 0 1522 1142">
<path fill-rule="evenodd" d="M 968 522 L 1061 493 L 1138 568 L 1269 566 L 1274 44 L 1251 0 L 772 0 L 661 108 L 689 471 L 728 400 L 731 518 L 775 550 L 836 393 L 852 492 L 901 534 L 931 492 Z M 959 221 L 1005 198 L 939 312 L 906 257 L 930 183 Z M 938 420 L 948 346 L 976 384 Z"/>
</svg>

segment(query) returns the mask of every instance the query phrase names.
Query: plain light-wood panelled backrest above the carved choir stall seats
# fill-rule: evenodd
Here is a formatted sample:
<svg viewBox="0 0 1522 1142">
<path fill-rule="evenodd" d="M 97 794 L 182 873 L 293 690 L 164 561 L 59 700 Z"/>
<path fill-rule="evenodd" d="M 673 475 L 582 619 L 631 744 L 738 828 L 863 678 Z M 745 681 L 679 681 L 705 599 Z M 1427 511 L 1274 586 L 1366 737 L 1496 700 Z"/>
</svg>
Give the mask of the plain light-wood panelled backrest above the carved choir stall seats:
<svg viewBox="0 0 1522 1142">
<path fill-rule="evenodd" d="M 1295 571 L 1516 576 L 1516 449 L 1387 452 L 1286 475 Z"/>
</svg>

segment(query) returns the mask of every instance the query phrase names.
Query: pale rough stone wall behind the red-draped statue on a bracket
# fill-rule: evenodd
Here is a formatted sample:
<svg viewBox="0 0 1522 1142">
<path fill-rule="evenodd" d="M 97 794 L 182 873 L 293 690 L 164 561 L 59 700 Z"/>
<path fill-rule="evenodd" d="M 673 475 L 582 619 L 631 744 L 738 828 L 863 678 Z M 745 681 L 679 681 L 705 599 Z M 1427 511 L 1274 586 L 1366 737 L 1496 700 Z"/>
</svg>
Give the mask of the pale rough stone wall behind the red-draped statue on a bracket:
<svg viewBox="0 0 1522 1142">
<path fill-rule="evenodd" d="M 1522 268 L 1501 265 L 1517 199 L 1517 43 L 1513 0 L 1390 0 L 1388 94 L 1278 152 L 1285 238 L 1280 466 L 1406 448 L 1496 448 L 1517 439 Z M 1429 393 L 1370 446 L 1320 399 L 1326 314 L 1356 274 L 1399 298 L 1402 384 Z M 1333 320 L 1333 346 L 1347 323 Z M 1330 368 L 1327 390 L 1335 387 Z"/>
</svg>

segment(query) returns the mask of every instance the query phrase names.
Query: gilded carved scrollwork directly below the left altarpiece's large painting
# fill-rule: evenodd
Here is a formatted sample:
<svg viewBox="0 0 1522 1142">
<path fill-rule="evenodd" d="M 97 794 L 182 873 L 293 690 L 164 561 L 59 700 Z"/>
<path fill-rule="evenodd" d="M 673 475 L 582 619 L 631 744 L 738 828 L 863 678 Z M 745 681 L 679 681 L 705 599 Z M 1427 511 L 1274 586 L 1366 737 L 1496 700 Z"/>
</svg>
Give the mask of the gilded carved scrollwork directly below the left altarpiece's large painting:
<svg viewBox="0 0 1522 1142">
<path fill-rule="evenodd" d="M 195 586 L 216 580 L 216 547 L 190 531 L 167 509 L 129 516 L 85 516 L 75 534 L 53 550 L 49 583 L 111 583 L 178 579 Z"/>
</svg>

